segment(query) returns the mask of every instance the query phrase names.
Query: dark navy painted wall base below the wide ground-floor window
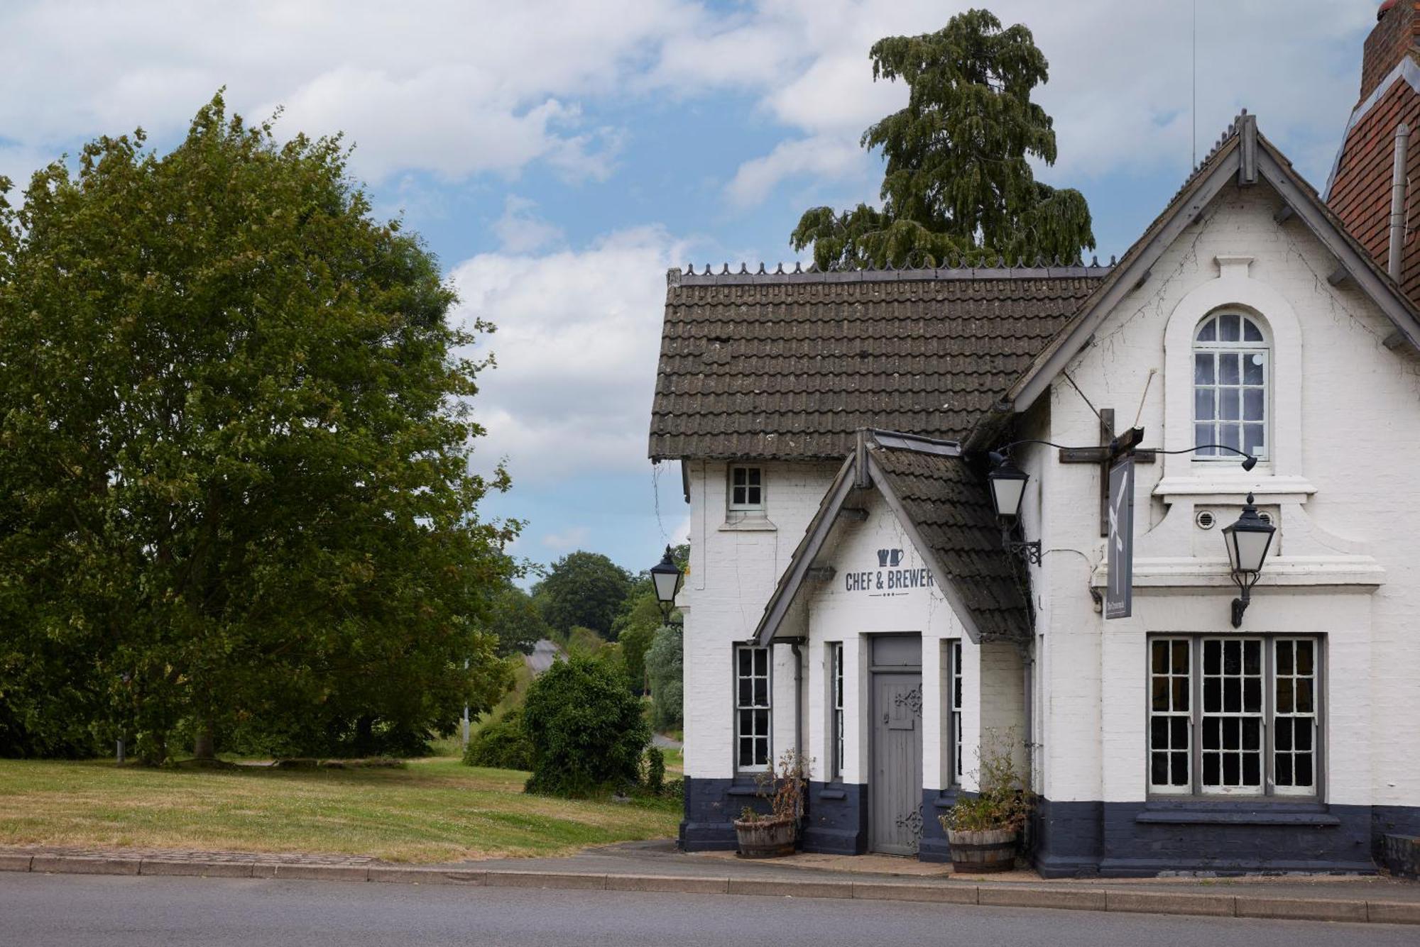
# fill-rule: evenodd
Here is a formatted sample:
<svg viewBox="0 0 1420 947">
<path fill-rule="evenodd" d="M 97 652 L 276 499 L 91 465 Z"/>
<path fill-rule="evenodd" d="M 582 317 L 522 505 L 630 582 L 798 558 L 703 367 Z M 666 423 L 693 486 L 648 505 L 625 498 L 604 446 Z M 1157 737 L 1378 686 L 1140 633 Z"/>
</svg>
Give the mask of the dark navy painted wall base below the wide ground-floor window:
<svg viewBox="0 0 1420 947">
<path fill-rule="evenodd" d="M 1041 800 L 1035 866 L 1045 878 L 1373 873 L 1382 836 L 1407 826 L 1420 831 L 1420 808 Z"/>
</svg>

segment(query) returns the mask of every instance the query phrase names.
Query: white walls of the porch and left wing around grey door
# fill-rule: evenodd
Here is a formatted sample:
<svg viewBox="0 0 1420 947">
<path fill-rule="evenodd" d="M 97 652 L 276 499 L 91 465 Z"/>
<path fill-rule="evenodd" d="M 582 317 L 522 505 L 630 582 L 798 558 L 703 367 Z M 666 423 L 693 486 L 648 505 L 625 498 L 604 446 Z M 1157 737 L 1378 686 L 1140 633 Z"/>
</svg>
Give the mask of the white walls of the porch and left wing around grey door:
<svg viewBox="0 0 1420 947">
<path fill-rule="evenodd" d="M 758 622 L 764 603 L 802 539 L 836 469 L 828 465 L 767 465 L 767 523 L 747 527 L 724 522 L 724 465 L 690 468 L 692 561 L 682 591 L 686 610 L 686 774 L 700 778 L 734 775 L 731 649 Z M 961 622 L 933 587 L 849 590 L 848 576 L 873 573 L 878 550 L 902 550 L 897 568 L 926 570 L 926 561 L 879 493 L 863 498 L 866 522 L 841 519 L 816 563 L 835 568 L 832 580 L 809 581 L 801 591 L 808 641 L 804 655 L 804 747 L 812 757 L 812 778 L 831 778 L 831 692 L 828 644 L 843 642 L 845 767 L 848 783 L 866 783 L 869 637 L 922 635 L 923 783 L 950 785 L 946 715 L 946 644 L 963 639 L 963 734 L 966 785 L 976 787 L 976 758 L 984 729 L 1017 729 L 1024 722 L 1020 652 L 1011 645 L 983 652 L 964 637 Z M 794 661 L 787 645 L 774 646 L 774 754 L 795 744 Z"/>
</svg>

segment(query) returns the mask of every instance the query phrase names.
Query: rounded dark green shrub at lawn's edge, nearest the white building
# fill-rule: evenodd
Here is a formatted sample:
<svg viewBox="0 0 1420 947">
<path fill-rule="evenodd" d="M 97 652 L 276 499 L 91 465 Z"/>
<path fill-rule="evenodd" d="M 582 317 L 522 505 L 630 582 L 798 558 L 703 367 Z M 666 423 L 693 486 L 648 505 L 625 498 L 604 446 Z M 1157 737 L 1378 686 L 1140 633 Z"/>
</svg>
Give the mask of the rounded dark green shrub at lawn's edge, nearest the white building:
<svg viewBox="0 0 1420 947">
<path fill-rule="evenodd" d="M 532 749 L 528 792 L 585 797 L 635 785 L 650 727 L 626 675 L 574 655 L 530 686 L 523 730 Z"/>
</svg>

